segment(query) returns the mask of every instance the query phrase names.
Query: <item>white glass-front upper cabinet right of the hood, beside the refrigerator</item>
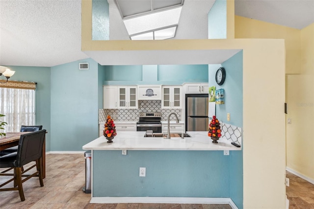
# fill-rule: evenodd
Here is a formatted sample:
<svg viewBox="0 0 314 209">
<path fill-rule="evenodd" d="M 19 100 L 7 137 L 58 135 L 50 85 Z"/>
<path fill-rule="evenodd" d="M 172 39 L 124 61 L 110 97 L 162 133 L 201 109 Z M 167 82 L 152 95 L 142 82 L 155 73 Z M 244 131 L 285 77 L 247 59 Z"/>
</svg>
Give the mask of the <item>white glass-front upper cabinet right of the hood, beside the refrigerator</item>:
<svg viewBox="0 0 314 209">
<path fill-rule="evenodd" d="M 161 108 L 182 108 L 182 86 L 162 86 Z"/>
</svg>

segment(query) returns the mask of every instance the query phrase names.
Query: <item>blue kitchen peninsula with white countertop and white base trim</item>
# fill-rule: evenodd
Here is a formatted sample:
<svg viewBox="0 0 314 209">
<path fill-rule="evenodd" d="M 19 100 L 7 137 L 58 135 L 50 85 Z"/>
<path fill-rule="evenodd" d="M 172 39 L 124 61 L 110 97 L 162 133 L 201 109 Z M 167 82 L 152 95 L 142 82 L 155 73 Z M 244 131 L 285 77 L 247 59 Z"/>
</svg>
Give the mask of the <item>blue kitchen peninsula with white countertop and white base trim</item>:
<svg viewBox="0 0 314 209">
<path fill-rule="evenodd" d="M 92 150 L 91 203 L 233 203 L 230 157 L 241 148 L 225 138 L 211 143 L 207 131 L 187 133 L 191 137 L 166 139 L 121 131 L 113 143 L 101 136 L 84 145 Z"/>
</svg>

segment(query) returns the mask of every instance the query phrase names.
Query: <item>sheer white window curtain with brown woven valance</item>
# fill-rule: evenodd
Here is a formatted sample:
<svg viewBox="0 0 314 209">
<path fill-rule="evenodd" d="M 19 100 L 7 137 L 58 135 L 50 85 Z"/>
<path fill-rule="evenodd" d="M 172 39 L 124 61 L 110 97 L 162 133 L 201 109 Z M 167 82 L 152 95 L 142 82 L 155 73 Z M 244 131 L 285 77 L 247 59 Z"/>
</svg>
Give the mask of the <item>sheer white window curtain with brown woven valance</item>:
<svg viewBox="0 0 314 209">
<path fill-rule="evenodd" d="M 1 118 L 7 123 L 5 132 L 20 131 L 22 125 L 35 125 L 35 87 L 35 83 L 29 82 L 1 83 L 0 114 L 5 115 Z"/>
</svg>

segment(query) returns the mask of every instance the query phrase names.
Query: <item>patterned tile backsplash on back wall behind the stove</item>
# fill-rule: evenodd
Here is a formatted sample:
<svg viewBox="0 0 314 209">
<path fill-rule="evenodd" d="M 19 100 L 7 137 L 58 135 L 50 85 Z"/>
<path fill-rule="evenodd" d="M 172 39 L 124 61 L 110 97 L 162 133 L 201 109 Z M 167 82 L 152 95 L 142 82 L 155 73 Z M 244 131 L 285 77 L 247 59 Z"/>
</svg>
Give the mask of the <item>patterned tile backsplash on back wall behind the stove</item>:
<svg viewBox="0 0 314 209">
<path fill-rule="evenodd" d="M 162 121 L 168 120 L 168 115 L 175 112 L 179 120 L 182 120 L 182 109 L 161 109 L 160 100 L 143 100 L 138 101 L 138 109 L 99 109 L 98 121 L 105 122 L 107 115 L 116 121 L 138 121 L 139 112 L 160 112 Z M 171 115 L 170 119 L 175 120 L 175 116 Z"/>
</svg>

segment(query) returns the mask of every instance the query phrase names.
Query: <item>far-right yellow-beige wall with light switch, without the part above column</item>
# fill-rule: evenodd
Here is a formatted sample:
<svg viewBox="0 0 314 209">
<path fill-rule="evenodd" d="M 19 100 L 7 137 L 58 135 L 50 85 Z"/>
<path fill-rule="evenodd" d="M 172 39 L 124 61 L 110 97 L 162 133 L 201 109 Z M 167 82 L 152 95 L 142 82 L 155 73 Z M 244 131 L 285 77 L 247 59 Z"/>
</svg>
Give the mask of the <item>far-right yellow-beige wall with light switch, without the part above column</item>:
<svg viewBox="0 0 314 209">
<path fill-rule="evenodd" d="M 314 24 L 301 31 L 301 74 L 287 75 L 287 167 L 314 183 Z"/>
</svg>

